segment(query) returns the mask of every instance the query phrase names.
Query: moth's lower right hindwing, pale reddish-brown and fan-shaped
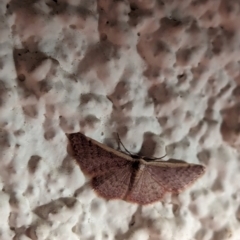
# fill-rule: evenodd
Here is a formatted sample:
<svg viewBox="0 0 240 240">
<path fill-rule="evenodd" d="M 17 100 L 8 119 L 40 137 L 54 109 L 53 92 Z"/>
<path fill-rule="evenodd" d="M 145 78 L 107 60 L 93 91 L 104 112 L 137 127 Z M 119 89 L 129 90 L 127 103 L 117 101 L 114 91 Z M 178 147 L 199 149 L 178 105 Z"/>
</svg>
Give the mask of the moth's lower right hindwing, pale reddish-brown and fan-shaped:
<svg viewBox="0 0 240 240">
<path fill-rule="evenodd" d="M 150 204 L 160 200 L 165 189 L 161 184 L 155 181 L 149 171 L 139 170 L 125 200 L 138 204 Z"/>
</svg>

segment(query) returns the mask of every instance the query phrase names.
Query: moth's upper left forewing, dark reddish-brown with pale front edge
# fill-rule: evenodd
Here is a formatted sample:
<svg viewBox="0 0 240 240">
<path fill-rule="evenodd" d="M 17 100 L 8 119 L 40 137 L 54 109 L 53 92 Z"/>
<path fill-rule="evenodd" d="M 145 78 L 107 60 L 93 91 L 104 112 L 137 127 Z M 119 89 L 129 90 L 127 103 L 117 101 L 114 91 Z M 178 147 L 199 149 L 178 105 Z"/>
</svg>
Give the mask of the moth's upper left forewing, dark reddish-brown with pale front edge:
<svg viewBox="0 0 240 240">
<path fill-rule="evenodd" d="M 128 155 L 90 139 L 80 132 L 67 136 L 73 156 L 85 174 L 94 177 L 131 164 Z"/>
</svg>

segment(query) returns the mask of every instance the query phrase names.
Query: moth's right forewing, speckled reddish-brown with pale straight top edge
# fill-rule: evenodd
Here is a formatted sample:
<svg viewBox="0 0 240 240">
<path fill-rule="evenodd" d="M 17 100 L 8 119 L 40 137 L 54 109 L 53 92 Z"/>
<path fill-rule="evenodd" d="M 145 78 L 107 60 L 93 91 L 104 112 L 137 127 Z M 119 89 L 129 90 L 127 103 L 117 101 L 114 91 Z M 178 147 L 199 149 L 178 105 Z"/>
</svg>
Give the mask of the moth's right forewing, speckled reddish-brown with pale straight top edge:
<svg viewBox="0 0 240 240">
<path fill-rule="evenodd" d="M 179 193 L 194 183 L 205 172 L 198 164 L 153 162 L 146 164 L 146 171 L 167 192 Z"/>
</svg>

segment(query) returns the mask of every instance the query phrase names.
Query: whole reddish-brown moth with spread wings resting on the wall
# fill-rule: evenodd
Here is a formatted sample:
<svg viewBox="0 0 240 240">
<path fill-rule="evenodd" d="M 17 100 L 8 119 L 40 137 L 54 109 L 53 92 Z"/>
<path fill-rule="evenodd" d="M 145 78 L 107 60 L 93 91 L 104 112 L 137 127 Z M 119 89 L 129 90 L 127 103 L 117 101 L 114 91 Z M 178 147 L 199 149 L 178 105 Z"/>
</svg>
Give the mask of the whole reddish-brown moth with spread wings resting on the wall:
<svg viewBox="0 0 240 240">
<path fill-rule="evenodd" d="M 74 158 L 91 177 L 98 195 L 141 205 L 160 200 L 165 193 L 179 193 L 205 172 L 205 167 L 170 159 L 153 161 L 128 155 L 82 133 L 68 134 Z"/>
</svg>

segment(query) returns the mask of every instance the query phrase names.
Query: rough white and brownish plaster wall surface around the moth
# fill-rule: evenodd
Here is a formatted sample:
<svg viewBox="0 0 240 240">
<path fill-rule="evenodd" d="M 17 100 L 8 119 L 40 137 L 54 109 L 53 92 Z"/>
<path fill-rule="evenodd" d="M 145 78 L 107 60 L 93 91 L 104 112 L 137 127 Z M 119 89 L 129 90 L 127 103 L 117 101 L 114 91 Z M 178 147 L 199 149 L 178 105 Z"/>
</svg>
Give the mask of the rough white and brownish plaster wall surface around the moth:
<svg viewBox="0 0 240 240">
<path fill-rule="evenodd" d="M 2 0 L 0 239 L 239 240 L 239 22 L 237 0 Z M 67 151 L 77 131 L 207 172 L 107 202 Z"/>
</svg>

